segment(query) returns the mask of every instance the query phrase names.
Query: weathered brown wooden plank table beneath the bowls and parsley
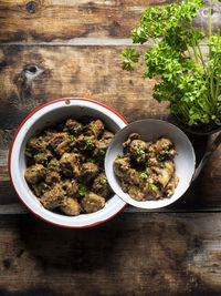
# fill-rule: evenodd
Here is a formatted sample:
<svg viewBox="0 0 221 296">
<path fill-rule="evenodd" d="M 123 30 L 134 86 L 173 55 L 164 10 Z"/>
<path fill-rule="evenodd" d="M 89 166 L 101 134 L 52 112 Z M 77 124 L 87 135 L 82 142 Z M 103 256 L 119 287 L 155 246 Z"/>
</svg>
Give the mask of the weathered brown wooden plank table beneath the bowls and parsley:
<svg viewBox="0 0 221 296">
<path fill-rule="evenodd" d="M 135 3 L 136 2 L 136 3 Z M 221 147 L 173 205 L 127 206 L 87 229 L 49 225 L 24 208 L 8 175 L 10 141 L 42 103 L 103 102 L 128 122 L 170 120 L 141 70 L 118 54 L 147 6 L 171 1 L 0 1 L 0 295 L 221 295 Z M 220 4 L 213 28 L 221 27 Z M 207 9 L 196 21 L 207 29 Z M 141 51 L 147 47 L 140 47 Z M 211 137 L 190 137 L 198 159 Z"/>
</svg>

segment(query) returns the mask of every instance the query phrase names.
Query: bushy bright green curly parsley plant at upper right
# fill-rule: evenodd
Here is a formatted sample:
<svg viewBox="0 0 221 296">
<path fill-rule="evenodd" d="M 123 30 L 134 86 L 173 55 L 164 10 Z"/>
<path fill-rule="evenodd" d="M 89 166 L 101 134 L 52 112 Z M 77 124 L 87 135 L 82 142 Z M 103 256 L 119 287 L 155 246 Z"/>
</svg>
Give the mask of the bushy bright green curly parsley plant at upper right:
<svg viewBox="0 0 221 296">
<path fill-rule="evenodd" d="M 221 127 L 221 37 L 220 30 L 211 33 L 213 1 L 208 37 L 192 24 L 203 0 L 147 8 L 139 27 L 131 31 L 133 43 L 148 42 L 151 47 L 144 55 L 144 78 L 158 79 L 154 98 L 168 101 L 171 113 L 192 131 Z M 201 41 L 207 43 L 207 55 L 202 54 Z M 129 48 L 120 57 L 122 68 L 133 71 L 140 54 Z"/>
</svg>

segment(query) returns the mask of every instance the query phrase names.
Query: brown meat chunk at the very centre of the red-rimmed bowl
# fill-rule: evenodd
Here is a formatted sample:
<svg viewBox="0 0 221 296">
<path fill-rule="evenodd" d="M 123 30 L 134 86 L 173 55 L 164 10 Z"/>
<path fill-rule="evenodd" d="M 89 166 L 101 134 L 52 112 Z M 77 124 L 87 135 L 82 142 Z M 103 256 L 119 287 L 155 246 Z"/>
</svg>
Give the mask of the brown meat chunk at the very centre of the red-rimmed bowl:
<svg viewBox="0 0 221 296">
<path fill-rule="evenodd" d="M 62 173 L 65 176 L 80 176 L 80 161 L 78 153 L 64 153 L 60 161 Z"/>
</svg>

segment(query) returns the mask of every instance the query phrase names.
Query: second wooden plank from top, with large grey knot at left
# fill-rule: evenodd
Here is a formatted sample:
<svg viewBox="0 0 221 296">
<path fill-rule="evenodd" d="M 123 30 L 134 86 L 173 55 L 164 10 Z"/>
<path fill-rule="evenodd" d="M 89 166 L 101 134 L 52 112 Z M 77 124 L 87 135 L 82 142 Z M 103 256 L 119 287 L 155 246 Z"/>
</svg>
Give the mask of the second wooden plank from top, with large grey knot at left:
<svg viewBox="0 0 221 296">
<path fill-rule="evenodd" d="M 146 116 L 166 119 L 169 114 L 166 104 L 151 99 L 154 81 L 144 80 L 141 69 L 131 74 L 120 69 L 118 55 L 123 49 L 0 48 L 0 126 L 14 129 L 40 104 L 63 96 L 98 100 L 128 121 Z"/>
</svg>

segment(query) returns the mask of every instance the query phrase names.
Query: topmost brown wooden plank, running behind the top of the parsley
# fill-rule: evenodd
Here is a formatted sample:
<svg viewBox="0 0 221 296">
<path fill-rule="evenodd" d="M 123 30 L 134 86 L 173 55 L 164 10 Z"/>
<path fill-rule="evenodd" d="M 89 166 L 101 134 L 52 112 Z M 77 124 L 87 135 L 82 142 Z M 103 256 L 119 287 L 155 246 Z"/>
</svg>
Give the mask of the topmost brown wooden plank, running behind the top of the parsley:
<svg viewBox="0 0 221 296">
<path fill-rule="evenodd" d="M 78 38 L 129 38 L 139 16 L 148 6 L 173 1 L 0 1 L 0 42 L 72 42 Z M 208 31 L 208 2 L 194 20 L 196 28 Z M 221 6 L 214 3 L 212 28 L 220 28 Z"/>
</svg>

